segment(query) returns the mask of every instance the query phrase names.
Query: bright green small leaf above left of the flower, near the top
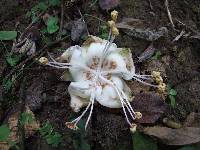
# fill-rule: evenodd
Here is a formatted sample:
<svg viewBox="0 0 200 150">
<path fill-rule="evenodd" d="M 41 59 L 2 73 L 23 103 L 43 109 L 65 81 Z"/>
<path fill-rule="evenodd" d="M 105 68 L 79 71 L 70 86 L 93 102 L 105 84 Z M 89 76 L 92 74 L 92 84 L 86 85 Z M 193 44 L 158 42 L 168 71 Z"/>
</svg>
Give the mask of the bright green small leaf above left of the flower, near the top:
<svg viewBox="0 0 200 150">
<path fill-rule="evenodd" d="M 47 31 L 48 33 L 52 34 L 58 31 L 59 26 L 57 25 L 58 18 L 57 17 L 49 17 L 47 20 Z"/>
</svg>

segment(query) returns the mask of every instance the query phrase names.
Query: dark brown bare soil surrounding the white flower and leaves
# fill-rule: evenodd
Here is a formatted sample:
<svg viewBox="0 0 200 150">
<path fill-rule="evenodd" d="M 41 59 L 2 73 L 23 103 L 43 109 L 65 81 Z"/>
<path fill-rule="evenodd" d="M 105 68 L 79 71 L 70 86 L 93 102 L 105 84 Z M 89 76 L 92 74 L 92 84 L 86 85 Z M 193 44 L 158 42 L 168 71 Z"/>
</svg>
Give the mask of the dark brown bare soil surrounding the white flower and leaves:
<svg viewBox="0 0 200 150">
<path fill-rule="evenodd" d="M 98 2 L 92 7 L 92 0 L 78 1 L 75 5 L 80 8 L 82 14 L 90 14 L 97 16 L 103 20 L 108 20 L 110 11 L 103 11 Z M 150 2 L 152 8 L 150 7 Z M 19 22 L 19 28 L 24 29 L 30 20 L 25 19 L 25 13 L 34 6 L 36 2 L 25 0 L 0 0 L 0 30 L 15 30 L 15 25 Z M 137 72 L 151 71 L 152 68 L 161 70 L 166 77 L 166 83 L 169 83 L 176 91 L 175 108 L 169 109 L 165 117 L 171 118 L 182 123 L 190 112 L 200 112 L 200 42 L 195 38 L 180 38 L 177 42 L 171 41 L 185 29 L 187 32 L 198 31 L 200 29 L 200 0 L 169 0 L 169 9 L 172 14 L 177 30 L 174 30 L 168 19 L 164 0 L 124 0 L 117 6 L 119 11 L 119 21 L 123 17 L 132 17 L 144 20 L 150 28 L 157 29 L 159 27 L 167 27 L 169 34 L 167 37 L 154 42 L 156 50 L 162 53 L 159 60 L 151 60 L 136 63 Z M 60 9 L 56 9 L 60 13 Z M 79 18 L 80 15 L 75 6 L 66 8 L 64 12 L 64 23 L 71 19 Z M 181 26 L 177 21 L 180 20 L 185 24 Z M 88 25 L 88 31 L 92 35 L 99 34 L 99 21 L 90 17 L 85 18 Z M 22 30 L 21 30 L 22 31 Z M 58 47 L 67 48 L 74 43 L 70 39 L 65 40 Z M 115 43 L 118 47 L 129 47 L 136 60 L 151 42 L 128 36 L 123 31 L 116 38 Z M 40 44 L 39 44 L 40 45 Z M 5 42 L 5 46 L 9 49 L 12 42 Z M 9 73 L 11 67 L 6 64 L 5 52 L 2 44 L 0 45 L 0 72 L 1 82 Z M 28 150 L 64 150 L 75 149 L 75 143 L 78 141 L 79 133 L 75 133 L 67 129 L 65 122 L 69 121 L 76 113 L 73 113 L 70 106 L 70 97 L 67 92 L 69 82 L 60 80 L 62 71 L 54 70 L 38 66 L 34 63 L 31 67 L 20 75 L 15 87 L 10 92 L 3 90 L 0 100 L 0 120 L 3 121 L 8 110 L 18 103 L 19 89 L 21 81 L 26 77 L 26 99 L 27 101 L 35 99 L 32 110 L 37 119 L 42 123 L 47 120 L 53 124 L 55 130 L 63 134 L 63 142 L 59 147 L 53 148 L 49 146 L 38 133 L 29 137 L 25 141 L 25 147 Z M 131 81 L 131 89 L 134 94 L 145 92 L 143 85 L 138 86 Z M 136 89 L 137 88 L 137 89 Z M 136 89 L 136 90 L 135 90 Z M 34 91 L 31 93 L 30 91 Z M 31 95 L 32 94 L 32 95 Z M 162 120 L 162 119 L 161 119 Z M 162 124 L 158 121 L 157 124 Z M 112 113 L 105 108 L 97 105 L 93 112 L 92 119 L 88 129 L 84 132 L 84 143 L 91 146 L 95 150 L 131 150 L 133 149 L 132 137 L 129 127 L 125 121 L 124 115 L 121 113 Z M 81 143 L 83 144 L 83 143 Z M 173 146 L 163 146 L 159 144 L 159 149 L 177 149 Z"/>
</svg>

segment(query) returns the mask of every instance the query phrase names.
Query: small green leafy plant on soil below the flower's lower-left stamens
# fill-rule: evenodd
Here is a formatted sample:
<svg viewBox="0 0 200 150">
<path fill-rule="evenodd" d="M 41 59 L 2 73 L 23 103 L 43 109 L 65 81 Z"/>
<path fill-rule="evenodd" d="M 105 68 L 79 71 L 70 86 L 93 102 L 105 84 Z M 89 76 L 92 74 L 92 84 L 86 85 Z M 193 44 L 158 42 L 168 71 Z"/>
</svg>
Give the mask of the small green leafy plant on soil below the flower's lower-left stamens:
<svg viewBox="0 0 200 150">
<path fill-rule="evenodd" d="M 39 129 L 40 135 L 47 141 L 49 145 L 57 147 L 62 141 L 62 135 L 54 131 L 53 126 L 47 122 Z"/>
</svg>

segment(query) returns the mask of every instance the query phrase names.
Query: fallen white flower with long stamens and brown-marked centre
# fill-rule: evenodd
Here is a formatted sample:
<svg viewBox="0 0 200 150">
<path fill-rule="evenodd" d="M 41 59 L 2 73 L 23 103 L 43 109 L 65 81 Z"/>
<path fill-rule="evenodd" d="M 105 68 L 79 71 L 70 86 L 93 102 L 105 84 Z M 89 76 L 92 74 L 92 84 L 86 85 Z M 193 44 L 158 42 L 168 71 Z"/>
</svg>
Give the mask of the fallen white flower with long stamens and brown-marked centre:
<svg viewBox="0 0 200 150">
<path fill-rule="evenodd" d="M 108 40 L 90 36 L 81 47 L 76 45 L 68 48 L 58 58 L 60 62 L 55 61 L 51 56 L 52 61 L 44 57 L 39 60 L 45 65 L 69 69 L 69 72 L 64 72 L 62 78 L 68 80 L 69 76 L 72 77 L 68 87 L 71 96 L 70 106 L 75 112 L 79 112 L 86 106 L 79 117 L 66 123 L 70 129 L 76 130 L 77 123 L 90 109 L 85 125 L 85 128 L 87 127 L 95 101 L 108 108 L 122 108 L 128 124 L 132 127 L 133 124 L 127 112 L 131 120 L 141 118 L 142 114 L 134 112 L 130 105 L 131 90 L 124 80 L 135 79 L 143 84 L 158 87 L 145 82 L 154 76 L 135 73 L 130 49 L 117 48 L 117 45 L 113 43 L 117 35 L 113 31 L 114 28 L 116 28 L 115 25 L 111 26 Z"/>
</svg>

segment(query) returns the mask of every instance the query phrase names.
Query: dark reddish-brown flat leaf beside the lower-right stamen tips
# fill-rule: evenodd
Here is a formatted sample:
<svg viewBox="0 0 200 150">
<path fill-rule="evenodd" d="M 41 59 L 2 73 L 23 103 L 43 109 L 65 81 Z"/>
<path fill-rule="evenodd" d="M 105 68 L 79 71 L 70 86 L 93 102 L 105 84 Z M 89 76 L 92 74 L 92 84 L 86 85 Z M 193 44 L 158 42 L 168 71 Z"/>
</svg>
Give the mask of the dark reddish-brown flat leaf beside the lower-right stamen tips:
<svg viewBox="0 0 200 150">
<path fill-rule="evenodd" d="M 131 102 L 132 107 L 142 113 L 138 123 L 155 123 L 166 110 L 163 99 L 155 93 L 137 94 Z"/>
</svg>

